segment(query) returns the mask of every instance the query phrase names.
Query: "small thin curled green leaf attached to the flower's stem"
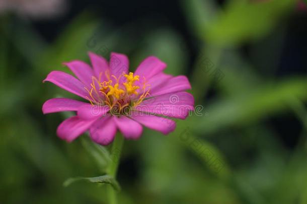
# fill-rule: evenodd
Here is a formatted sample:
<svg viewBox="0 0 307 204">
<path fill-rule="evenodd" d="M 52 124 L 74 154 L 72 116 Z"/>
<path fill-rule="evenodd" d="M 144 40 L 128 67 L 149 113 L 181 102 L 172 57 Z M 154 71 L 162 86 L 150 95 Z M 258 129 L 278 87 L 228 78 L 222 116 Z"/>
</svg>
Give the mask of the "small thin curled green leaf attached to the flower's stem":
<svg viewBox="0 0 307 204">
<path fill-rule="evenodd" d="M 67 187 L 71 183 L 78 182 L 78 181 L 87 181 L 91 183 L 105 183 L 110 184 L 115 190 L 120 190 L 120 185 L 118 182 L 110 175 L 103 175 L 97 177 L 75 177 L 75 178 L 68 178 L 63 185 Z"/>
</svg>

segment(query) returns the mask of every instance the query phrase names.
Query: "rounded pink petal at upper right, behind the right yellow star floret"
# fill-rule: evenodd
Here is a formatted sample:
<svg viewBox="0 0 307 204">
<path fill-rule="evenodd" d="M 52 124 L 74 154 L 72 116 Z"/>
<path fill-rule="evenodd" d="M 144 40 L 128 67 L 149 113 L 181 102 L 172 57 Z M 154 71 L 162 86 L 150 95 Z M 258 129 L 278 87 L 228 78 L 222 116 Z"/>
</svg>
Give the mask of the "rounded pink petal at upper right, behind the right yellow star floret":
<svg viewBox="0 0 307 204">
<path fill-rule="evenodd" d="M 150 79 L 151 77 L 163 72 L 166 68 L 166 63 L 155 56 L 149 56 L 144 59 L 135 71 L 135 75 Z"/>
</svg>

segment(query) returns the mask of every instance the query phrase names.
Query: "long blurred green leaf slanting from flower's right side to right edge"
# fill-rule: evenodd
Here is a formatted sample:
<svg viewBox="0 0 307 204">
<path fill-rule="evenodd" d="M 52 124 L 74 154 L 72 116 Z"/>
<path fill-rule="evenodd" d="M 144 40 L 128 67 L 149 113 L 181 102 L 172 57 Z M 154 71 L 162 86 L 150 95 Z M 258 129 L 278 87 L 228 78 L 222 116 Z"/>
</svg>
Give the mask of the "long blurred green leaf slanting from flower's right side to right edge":
<svg viewBox="0 0 307 204">
<path fill-rule="evenodd" d="M 212 133 L 230 125 L 244 125 L 268 114 L 285 110 L 289 98 L 307 100 L 306 87 L 305 78 L 259 85 L 250 93 L 217 101 L 205 107 L 205 110 L 197 106 L 195 110 L 197 114 L 186 121 L 192 131 L 201 134 Z"/>
</svg>

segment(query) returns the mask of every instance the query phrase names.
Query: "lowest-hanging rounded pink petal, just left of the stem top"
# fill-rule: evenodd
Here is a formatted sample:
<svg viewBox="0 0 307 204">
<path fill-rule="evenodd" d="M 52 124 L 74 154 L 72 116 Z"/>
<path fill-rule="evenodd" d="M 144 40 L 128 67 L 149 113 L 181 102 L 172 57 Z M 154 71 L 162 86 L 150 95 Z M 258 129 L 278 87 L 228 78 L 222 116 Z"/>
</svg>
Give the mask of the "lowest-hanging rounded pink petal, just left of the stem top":
<svg viewBox="0 0 307 204">
<path fill-rule="evenodd" d="M 100 145 L 112 143 L 115 134 L 116 125 L 110 115 L 97 120 L 90 128 L 92 140 Z"/>
</svg>

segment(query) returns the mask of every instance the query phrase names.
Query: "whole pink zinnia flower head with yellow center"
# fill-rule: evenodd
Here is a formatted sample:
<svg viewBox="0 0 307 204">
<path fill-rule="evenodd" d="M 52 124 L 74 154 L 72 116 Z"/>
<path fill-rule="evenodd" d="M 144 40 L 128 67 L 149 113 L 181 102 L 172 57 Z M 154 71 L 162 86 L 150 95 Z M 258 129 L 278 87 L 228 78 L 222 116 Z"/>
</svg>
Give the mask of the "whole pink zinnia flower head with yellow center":
<svg viewBox="0 0 307 204">
<path fill-rule="evenodd" d="M 64 120 L 57 135 L 68 142 L 89 130 L 92 140 L 110 144 L 117 129 L 126 139 L 138 139 L 142 125 L 164 134 L 175 129 L 169 117 L 185 119 L 194 109 L 194 98 L 184 92 L 191 88 L 185 76 L 164 74 L 166 64 L 149 56 L 128 73 L 128 58 L 111 53 L 110 63 L 89 53 L 93 69 L 83 61 L 64 63 L 78 78 L 53 71 L 43 81 L 87 99 L 89 103 L 67 98 L 53 98 L 43 105 L 43 113 L 76 111 L 76 116 Z"/>
</svg>

